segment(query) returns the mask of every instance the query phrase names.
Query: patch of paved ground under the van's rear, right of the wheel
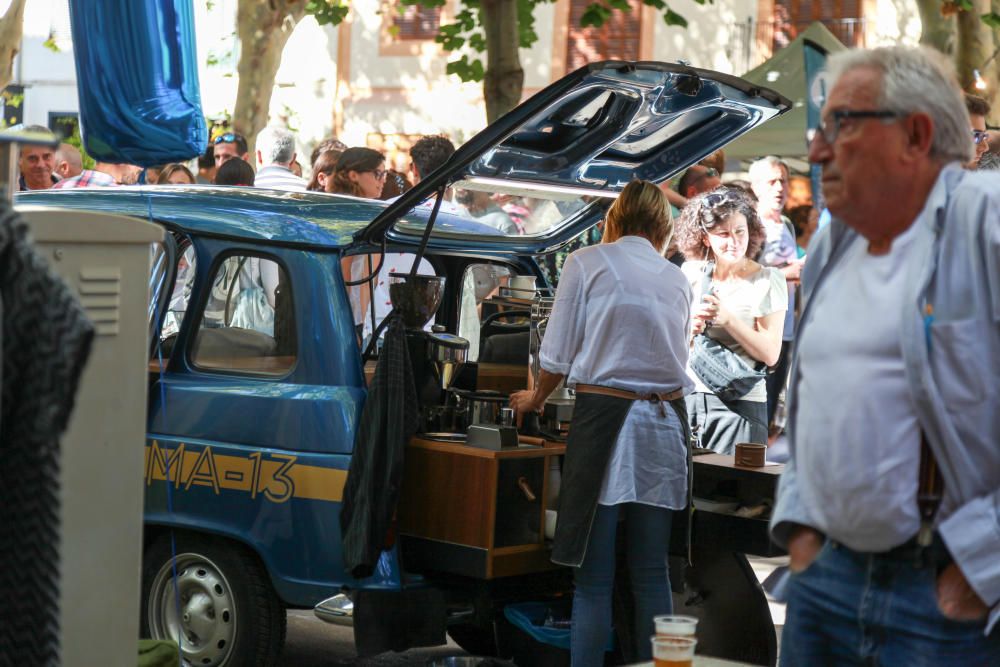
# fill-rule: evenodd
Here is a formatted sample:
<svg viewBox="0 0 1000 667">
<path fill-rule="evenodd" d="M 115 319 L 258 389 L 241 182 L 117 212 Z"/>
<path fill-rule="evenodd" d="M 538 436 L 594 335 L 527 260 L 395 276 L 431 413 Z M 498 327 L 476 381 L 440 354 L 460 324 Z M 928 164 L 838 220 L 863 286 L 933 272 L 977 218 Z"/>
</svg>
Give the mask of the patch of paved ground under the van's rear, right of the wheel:
<svg viewBox="0 0 1000 667">
<path fill-rule="evenodd" d="M 354 652 L 354 635 L 350 628 L 324 623 L 312 611 L 288 612 L 288 637 L 278 667 L 397 667 L 425 665 L 432 658 L 466 655 L 454 643 L 429 649 L 413 649 L 405 653 L 389 653 L 368 660 L 359 660 Z"/>
</svg>

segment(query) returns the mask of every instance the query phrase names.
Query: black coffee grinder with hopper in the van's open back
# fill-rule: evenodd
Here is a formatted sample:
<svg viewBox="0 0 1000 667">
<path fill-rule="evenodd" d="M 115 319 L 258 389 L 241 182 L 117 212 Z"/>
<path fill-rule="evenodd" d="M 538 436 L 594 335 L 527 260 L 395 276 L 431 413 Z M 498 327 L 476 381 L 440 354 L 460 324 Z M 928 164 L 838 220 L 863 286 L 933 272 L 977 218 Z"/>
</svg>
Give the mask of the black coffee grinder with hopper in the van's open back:
<svg viewBox="0 0 1000 667">
<path fill-rule="evenodd" d="M 389 300 L 406 327 L 421 433 L 456 430 L 457 416 L 447 404 L 447 390 L 469 352 L 469 341 L 464 338 L 424 330 L 441 305 L 444 285 L 442 276 L 389 274 Z"/>
</svg>

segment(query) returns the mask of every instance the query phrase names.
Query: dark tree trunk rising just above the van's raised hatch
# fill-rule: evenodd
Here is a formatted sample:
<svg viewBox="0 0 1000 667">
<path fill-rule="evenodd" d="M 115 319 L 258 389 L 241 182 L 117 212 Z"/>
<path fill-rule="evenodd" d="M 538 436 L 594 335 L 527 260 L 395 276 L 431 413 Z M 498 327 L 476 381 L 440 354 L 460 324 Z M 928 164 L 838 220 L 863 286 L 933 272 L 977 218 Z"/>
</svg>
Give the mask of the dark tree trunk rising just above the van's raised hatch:
<svg viewBox="0 0 1000 667">
<path fill-rule="evenodd" d="M 486 33 L 483 96 L 486 120 L 492 123 L 520 103 L 524 89 L 524 70 L 517 51 L 517 0 L 482 0 L 479 11 Z"/>
</svg>

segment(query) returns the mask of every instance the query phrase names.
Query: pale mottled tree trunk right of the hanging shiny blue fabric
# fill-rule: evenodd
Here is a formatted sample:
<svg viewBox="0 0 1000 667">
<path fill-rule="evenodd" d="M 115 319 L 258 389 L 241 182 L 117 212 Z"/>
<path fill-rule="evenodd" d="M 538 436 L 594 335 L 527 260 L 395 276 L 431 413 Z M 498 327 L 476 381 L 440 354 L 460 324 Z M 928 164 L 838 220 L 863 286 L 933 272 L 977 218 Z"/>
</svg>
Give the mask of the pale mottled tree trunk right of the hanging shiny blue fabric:
<svg viewBox="0 0 1000 667">
<path fill-rule="evenodd" d="M 281 52 L 305 14 L 305 5 L 305 0 L 239 0 L 236 34 L 240 40 L 240 81 L 233 130 L 246 137 L 251 156 L 257 133 L 267 125 Z"/>
</svg>

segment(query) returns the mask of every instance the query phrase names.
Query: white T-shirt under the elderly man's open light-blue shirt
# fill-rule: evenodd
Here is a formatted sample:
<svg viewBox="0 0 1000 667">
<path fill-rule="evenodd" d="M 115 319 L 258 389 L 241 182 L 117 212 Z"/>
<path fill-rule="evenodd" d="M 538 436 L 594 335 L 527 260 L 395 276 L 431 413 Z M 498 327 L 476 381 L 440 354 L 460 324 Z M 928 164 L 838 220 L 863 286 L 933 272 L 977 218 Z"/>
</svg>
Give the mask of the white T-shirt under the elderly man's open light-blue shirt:
<svg viewBox="0 0 1000 667">
<path fill-rule="evenodd" d="M 920 427 L 899 336 L 900 309 L 913 307 L 904 255 L 916 227 L 887 255 L 868 254 L 860 236 L 846 248 L 798 341 L 799 491 L 817 529 L 861 551 L 891 549 L 920 528 Z"/>
</svg>

